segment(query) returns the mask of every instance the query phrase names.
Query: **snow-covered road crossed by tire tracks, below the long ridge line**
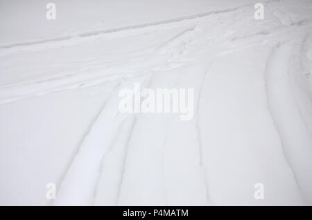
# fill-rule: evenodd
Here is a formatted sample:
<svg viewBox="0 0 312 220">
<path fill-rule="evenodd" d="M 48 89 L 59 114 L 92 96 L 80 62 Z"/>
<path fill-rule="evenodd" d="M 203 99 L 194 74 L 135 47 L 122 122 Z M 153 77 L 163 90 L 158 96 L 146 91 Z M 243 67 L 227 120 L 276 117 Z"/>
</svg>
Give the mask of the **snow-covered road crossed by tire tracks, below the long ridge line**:
<svg viewBox="0 0 312 220">
<path fill-rule="evenodd" d="M 312 205 L 312 1 L 198 15 L 2 46 L 0 204 Z M 120 113 L 135 83 L 193 119 Z"/>
</svg>

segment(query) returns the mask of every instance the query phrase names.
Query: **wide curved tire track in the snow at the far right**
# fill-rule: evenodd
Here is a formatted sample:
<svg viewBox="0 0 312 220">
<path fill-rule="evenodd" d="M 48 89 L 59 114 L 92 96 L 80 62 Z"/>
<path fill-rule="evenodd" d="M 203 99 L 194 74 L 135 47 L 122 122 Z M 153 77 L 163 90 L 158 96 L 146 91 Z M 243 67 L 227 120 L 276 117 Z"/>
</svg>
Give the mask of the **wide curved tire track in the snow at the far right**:
<svg viewBox="0 0 312 220">
<path fill-rule="evenodd" d="M 266 66 L 265 82 L 268 111 L 281 140 L 286 163 L 293 171 L 302 199 L 311 204 L 312 149 L 311 136 L 293 100 L 288 79 L 288 64 L 293 46 L 278 44 L 272 48 Z"/>
</svg>

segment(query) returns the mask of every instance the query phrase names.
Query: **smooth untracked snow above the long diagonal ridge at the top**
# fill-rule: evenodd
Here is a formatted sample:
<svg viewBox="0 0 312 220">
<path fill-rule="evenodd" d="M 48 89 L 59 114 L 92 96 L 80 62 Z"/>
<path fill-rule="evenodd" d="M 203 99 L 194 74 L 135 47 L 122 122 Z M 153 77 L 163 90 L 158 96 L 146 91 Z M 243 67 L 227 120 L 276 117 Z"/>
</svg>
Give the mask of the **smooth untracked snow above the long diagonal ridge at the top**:
<svg viewBox="0 0 312 220">
<path fill-rule="evenodd" d="M 46 19 L 46 4 L 55 3 L 56 19 Z M 46 39 L 114 30 L 139 24 L 179 19 L 225 10 L 255 0 L 1 0 L 0 45 L 8 46 Z"/>
</svg>

